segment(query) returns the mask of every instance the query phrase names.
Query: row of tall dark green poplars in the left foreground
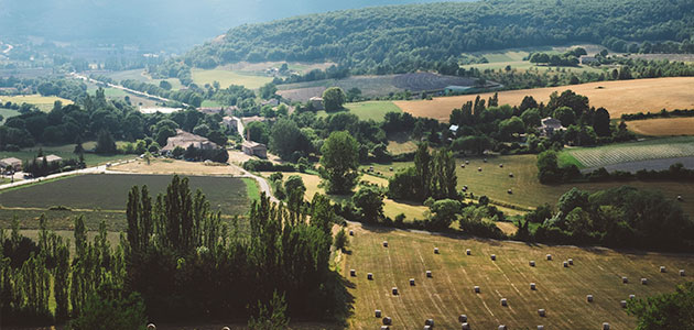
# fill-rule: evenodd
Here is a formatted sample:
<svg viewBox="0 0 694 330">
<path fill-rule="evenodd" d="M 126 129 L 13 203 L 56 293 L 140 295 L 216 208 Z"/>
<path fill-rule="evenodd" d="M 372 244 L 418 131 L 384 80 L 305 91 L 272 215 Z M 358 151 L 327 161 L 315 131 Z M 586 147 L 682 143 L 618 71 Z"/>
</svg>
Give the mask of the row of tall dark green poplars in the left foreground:
<svg viewBox="0 0 694 330">
<path fill-rule="evenodd" d="M 241 226 L 210 210 L 187 178 L 174 176 L 155 198 L 147 186 L 133 187 L 126 213 L 128 230 L 115 248 L 105 223 L 89 242 L 77 218 L 72 258 L 69 240 L 47 231 L 44 218 L 37 243 L 21 237 L 18 221 L 8 238 L 2 232 L 3 324 L 79 318 L 104 287 L 117 293 L 115 299 L 141 297 L 153 322 L 246 320 L 278 295 L 292 317 L 323 319 L 344 308 L 344 286 L 328 268 L 335 216 L 324 196 L 289 206 L 262 196 Z"/>
</svg>

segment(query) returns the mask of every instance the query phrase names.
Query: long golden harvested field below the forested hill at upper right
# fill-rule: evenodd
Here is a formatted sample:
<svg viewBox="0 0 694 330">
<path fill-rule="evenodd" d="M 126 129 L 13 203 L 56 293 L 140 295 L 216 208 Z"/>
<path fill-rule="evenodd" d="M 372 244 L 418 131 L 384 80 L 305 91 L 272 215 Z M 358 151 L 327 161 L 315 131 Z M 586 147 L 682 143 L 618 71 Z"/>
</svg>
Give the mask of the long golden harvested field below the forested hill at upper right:
<svg viewBox="0 0 694 330">
<path fill-rule="evenodd" d="M 546 102 L 553 91 L 571 89 L 588 97 L 590 106 L 605 107 L 612 118 L 622 113 L 655 112 L 662 109 L 694 108 L 694 77 L 637 79 L 619 81 L 598 81 L 561 87 L 520 89 L 499 92 L 499 105 L 518 106 L 525 96 L 532 96 L 538 102 Z M 488 99 L 494 92 L 481 94 Z M 402 111 L 414 117 L 429 117 L 448 121 L 451 111 L 460 108 L 467 101 L 474 101 L 477 95 L 441 97 L 433 100 L 394 101 Z"/>
</svg>

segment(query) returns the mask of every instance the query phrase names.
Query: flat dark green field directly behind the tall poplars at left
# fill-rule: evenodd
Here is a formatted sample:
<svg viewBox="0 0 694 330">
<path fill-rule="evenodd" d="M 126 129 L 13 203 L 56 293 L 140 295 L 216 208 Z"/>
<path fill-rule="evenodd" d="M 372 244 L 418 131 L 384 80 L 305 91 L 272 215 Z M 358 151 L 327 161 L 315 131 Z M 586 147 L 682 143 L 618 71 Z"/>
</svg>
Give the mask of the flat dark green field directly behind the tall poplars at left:
<svg viewBox="0 0 694 330">
<path fill-rule="evenodd" d="M 132 186 L 147 185 L 150 195 L 163 193 L 169 175 L 98 174 L 30 185 L 0 191 L 2 207 L 47 209 L 65 206 L 77 210 L 124 210 Z M 248 209 L 247 184 L 232 177 L 191 176 L 191 189 L 203 190 L 214 210 L 243 215 Z"/>
</svg>

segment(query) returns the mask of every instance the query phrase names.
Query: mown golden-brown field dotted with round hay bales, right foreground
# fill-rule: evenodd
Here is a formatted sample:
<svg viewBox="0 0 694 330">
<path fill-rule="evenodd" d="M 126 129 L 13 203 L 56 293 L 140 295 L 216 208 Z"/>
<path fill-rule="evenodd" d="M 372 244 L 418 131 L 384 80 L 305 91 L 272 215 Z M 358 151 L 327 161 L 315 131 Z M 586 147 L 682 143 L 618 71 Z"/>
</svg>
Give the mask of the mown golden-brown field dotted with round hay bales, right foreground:
<svg viewBox="0 0 694 330">
<path fill-rule="evenodd" d="M 677 270 L 694 267 L 692 255 L 657 253 L 620 253 L 607 249 L 528 245 L 478 239 L 446 238 L 426 233 L 368 229 L 350 226 L 349 253 L 340 264 L 355 297 L 354 315 L 348 320 L 353 329 L 377 329 L 380 309 L 391 317 L 394 329 L 413 329 L 434 319 L 436 328 L 459 329 L 458 316 L 467 315 L 471 329 L 600 329 L 609 322 L 611 329 L 633 329 L 636 319 L 627 316 L 620 300 L 633 294 L 653 296 L 674 290 L 690 277 L 680 277 Z M 388 241 L 389 248 L 381 246 Z M 434 254 L 433 248 L 441 254 Z M 465 255 L 465 249 L 471 255 Z M 551 253 L 554 261 L 545 261 Z M 490 254 L 497 255 L 492 262 Z M 562 261 L 573 258 L 564 268 Z M 536 261 L 535 267 L 529 261 Z M 659 273 L 659 266 L 668 273 Z M 357 277 L 349 276 L 356 270 Z M 426 278 L 425 271 L 432 271 Z M 368 280 L 367 273 L 373 274 Z M 627 276 L 629 284 L 621 283 Z M 647 277 L 649 285 L 639 279 Z M 415 286 L 410 286 L 414 278 Z M 536 284 L 536 290 L 530 289 Z M 475 294 L 474 286 L 480 287 Z M 398 287 L 393 296 L 391 288 Z M 586 301 L 594 296 L 594 302 Z M 508 299 L 502 307 L 501 298 Z M 538 315 L 545 309 L 546 317 Z"/>
</svg>

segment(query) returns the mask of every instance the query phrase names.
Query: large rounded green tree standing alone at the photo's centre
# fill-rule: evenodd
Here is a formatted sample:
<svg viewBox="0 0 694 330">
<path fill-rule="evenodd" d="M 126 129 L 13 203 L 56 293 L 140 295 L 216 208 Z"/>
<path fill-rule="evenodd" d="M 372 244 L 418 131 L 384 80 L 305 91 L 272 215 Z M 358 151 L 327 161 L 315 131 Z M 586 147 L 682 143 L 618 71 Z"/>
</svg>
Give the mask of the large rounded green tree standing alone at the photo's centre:
<svg viewBox="0 0 694 330">
<path fill-rule="evenodd" d="M 328 194 L 347 194 L 357 185 L 359 143 L 347 132 L 333 132 L 321 148 L 321 178 Z"/>
</svg>

